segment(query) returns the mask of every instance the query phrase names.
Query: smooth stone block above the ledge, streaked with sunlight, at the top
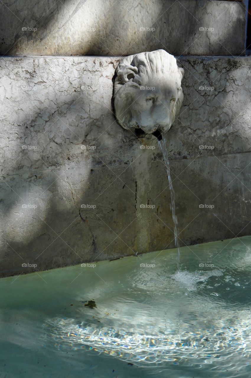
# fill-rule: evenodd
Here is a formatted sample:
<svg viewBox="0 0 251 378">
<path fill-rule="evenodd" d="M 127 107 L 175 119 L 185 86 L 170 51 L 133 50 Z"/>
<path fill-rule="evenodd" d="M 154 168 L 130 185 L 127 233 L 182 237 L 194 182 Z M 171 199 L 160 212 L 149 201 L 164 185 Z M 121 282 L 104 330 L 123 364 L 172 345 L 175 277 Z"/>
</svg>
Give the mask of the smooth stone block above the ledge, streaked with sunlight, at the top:
<svg viewBox="0 0 251 378">
<path fill-rule="evenodd" d="M 5 55 L 245 52 L 242 1 L 5 0 L 0 9 L 0 53 Z"/>
</svg>

